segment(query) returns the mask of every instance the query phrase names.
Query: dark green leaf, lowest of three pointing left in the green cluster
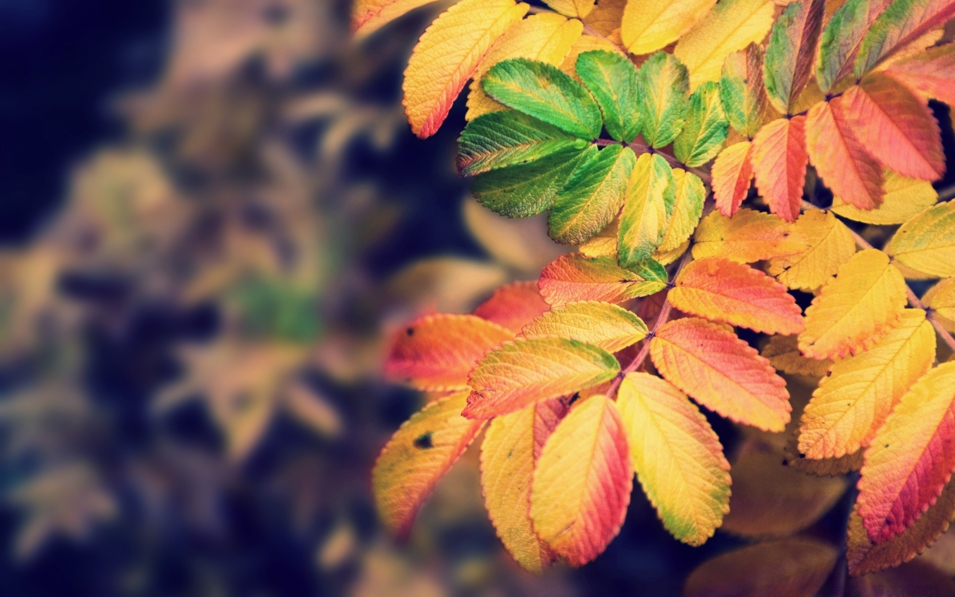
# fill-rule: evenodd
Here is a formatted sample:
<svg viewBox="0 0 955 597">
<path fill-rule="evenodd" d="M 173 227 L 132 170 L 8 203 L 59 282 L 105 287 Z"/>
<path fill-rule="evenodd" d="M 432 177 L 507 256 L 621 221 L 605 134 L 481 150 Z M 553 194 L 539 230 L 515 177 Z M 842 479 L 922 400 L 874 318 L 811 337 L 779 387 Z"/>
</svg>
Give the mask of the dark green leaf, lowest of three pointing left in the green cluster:
<svg viewBox="0 0 955 597">
<path fill-rule="evenodd" d="M 471 193 L 502 216 L 533 216 L 550 207 L 574 169 L 596 153 L 593 144 L 568 147 L 539 160 L 492 170 L 475 177 Z"/>
</svg>

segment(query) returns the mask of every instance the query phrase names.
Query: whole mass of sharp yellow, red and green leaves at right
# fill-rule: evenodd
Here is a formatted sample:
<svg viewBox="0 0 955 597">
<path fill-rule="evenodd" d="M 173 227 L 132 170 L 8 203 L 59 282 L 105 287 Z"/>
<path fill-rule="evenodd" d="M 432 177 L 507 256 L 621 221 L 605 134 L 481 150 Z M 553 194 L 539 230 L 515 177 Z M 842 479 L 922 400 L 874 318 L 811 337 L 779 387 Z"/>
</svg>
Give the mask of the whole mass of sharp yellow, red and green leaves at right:
<svg viewBox="0 0 955 597">
<path fill-rule="evenodd" d="M 358 2 L 354 28 L 368 27 L 362 15 L 372 7 L 380 25 L 419 4 Z M 700 405 L 762 430 L 745 433 L 785 432 L 772 450 L 801 470 L 860 468 L 850 573 L 915 557 L 955 516 L 944 499 L 955 471 L 955 383 L 936 355 L 938 337 L 955 350 L 945 330 L 955 211 L 931 185 L 944 176 L 944 152 L 928 105 L 953 99 L 955 44 L 941 28 L 955 2 L 547 4 L 556 12 L 531 8 L 520 21 L 527 5 L 462 0 L 421 37 L 405 73 L 420 137 L 474 76 L 469 105 L 497 102 L 469 111 L 459 139 L 458 168 L 474 177 L 477 201 L 511 218 L 549 211 L 551 238 L 579 247 L 541 272 L 550 310 L 512 311 L 508 338 L 475 347 L 469 367 L 456 361 L 455 383 L 471 391 L 466 407 L 454 425 L 432 430 L 460 429 L 455 441 L 465 441 L 473 427 L 464 420 L 491 419 L 492 429 L 521 421 L 524 433 L 484 439 L 497 455 L 484 462 L 484 494 L 505 547 L 532 570 L 555 557 L 589 562 L 623 522 L 631 471 L 674 537 L 705 542 L 733 516 L 731 477 L 744 465 L 730 469 Z M 530 26 L 511 33 L 544 15 L 582 27 L 542 45 L 523 32 Z M 902 225 L 876 227 L 892 224 Z M 924 297 L 929 308 L 905 278 L 944 280 Z M 804 312 L 803 293 L 815 295 Z M 468 321 L 435 334 L 416 366 L 442 369 L 446 353 L 487 326 Z M 757 340 L 768 342 L 763 354 Z M 392 358 L 416 342 L 399 334 Z M 798 420 L 779 372 L 815 388 Z M 539 419 L 545 404 L 563 406 Z M 520 465 L 499 457 L 504 441 Z M 443 471 L 428 449 L 404 458 L 415 478 Z M 501 487 L 505 474 L 520 490 Z M 818 516 L 843 488 L 830 485 Z M 409 491 L 393 479 L 377 497 L 417 503 Z M 817 541 L 765 549 L 757 559 L 797 554 L 781 581 L 792 594 L 816 592 L 842 565 L 838 549 Z M 745 575 L 753 556 L 743 552 L 698 570 L 690 594 L 712 594 L 701 583 L 724 566 Z"/>
</svg>

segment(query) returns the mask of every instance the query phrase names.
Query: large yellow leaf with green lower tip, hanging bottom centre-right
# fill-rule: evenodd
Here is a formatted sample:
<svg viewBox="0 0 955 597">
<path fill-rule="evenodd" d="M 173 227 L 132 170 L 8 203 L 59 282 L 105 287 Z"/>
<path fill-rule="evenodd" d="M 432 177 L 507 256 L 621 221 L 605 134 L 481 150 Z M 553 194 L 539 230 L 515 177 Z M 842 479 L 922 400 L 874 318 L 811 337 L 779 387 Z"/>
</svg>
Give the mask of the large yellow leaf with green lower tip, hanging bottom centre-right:
<svg viewBox="0 0 955 597">
<path fill-rule="evenodd" d="M 617 397 L 637 478 L 667 530 L 701 545 L 730 510 L 730 463 L 706 416 L 667 381 L 628 373 Z"/>
</svg>

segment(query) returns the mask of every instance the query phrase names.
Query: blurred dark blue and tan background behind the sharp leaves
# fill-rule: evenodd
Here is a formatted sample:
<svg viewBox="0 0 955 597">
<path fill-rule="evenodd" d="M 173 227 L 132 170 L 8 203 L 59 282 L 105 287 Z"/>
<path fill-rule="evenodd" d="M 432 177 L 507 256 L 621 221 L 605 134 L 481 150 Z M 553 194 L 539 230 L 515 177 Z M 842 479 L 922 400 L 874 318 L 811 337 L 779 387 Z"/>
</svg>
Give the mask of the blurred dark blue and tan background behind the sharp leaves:
<svg viewBox="0 0 955 597">
<path fill-rule="evenodd" d="M 410 133 L 440 10 L 355 46 L 345 0 L 0 0 L 0 595 L 669 595 L 743 543 L 678 544 L 636 491 L 605 555 L 533 577 L 475 449 L 409 544 L 380 528 L 371 466 L 427 400 L 380 380 L 390 330 L 562 251 L 470 200 L 461 105 Z M 840 541 L 844 481 L 712 422 L 760 516 Z"/>
</svg>

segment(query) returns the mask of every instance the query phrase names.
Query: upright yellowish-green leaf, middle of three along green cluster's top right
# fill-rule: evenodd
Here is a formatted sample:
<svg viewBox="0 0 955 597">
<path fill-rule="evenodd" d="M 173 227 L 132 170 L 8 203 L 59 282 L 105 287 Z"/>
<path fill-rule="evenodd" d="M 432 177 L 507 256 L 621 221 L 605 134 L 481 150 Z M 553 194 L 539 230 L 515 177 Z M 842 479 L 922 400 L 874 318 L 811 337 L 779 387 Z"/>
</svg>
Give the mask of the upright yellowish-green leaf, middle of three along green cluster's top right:
<svg viewBox="0 0 955 597">
<path fill-rule="evenodd" d="M 676 139 L 690 110 L 690 74 L 673 54 L 652 54 L 640 67 L 640 130 L 652 147 Z"/>
</svg>

